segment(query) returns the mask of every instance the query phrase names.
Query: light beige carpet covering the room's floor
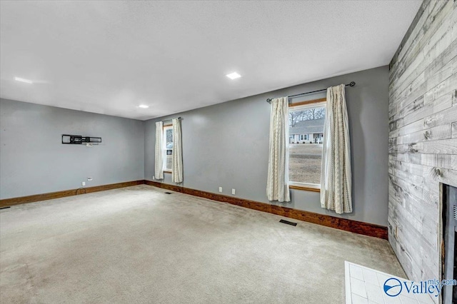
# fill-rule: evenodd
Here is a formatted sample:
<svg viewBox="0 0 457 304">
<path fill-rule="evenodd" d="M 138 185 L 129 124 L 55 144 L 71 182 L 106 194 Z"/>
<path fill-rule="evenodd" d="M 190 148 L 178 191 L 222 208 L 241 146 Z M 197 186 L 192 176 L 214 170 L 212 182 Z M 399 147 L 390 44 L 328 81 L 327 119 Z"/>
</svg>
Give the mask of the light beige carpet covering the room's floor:
<svg viewBox="0 0 457 304">
<path fill-rule="evenodd" d="M 0 211 L 0 303 L 343 303 L 386 240 L 140 185 Z"/>
</svg>

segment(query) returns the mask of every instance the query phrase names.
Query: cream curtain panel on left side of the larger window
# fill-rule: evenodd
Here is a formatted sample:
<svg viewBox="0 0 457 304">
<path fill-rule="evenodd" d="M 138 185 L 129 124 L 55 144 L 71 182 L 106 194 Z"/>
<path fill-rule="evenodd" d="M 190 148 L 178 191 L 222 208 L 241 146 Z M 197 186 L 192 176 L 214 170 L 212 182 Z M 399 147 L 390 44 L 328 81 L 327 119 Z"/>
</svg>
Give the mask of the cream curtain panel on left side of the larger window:
<svg viewBox="0 0 457 304">
<path fill-rule="evenodd" d="M 288 190 L 288 98 L 271 101 L 270 146 L 268 156 L 268 201 L 291 201 Z"/>
</svg>

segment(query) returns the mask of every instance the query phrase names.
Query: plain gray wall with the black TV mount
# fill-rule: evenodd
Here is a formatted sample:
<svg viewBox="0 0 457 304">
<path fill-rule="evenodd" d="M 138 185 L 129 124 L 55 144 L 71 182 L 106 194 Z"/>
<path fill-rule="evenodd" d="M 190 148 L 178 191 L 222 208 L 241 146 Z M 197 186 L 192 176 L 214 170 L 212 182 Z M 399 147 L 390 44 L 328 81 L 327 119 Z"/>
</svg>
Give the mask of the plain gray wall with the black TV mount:
<svg viewBox="0 0 457 304">
<path fill-rule="evenodd" d="M 144 179 L 144 121 L 0 99 L 0 126 L 0 198 Z M 103 143 L 63 145 L 64 133 Z"/>
</svg>

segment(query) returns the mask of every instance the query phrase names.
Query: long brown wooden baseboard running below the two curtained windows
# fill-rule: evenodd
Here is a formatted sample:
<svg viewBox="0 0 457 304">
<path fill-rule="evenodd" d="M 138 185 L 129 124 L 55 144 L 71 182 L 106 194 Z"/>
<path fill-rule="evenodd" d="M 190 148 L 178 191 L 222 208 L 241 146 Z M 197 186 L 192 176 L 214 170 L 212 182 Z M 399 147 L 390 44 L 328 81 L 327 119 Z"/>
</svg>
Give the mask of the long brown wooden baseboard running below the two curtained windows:
<svg viewBox="0 0 457 304">
<path fill-rule="evenodd" d="M 236 206 L 241 206 L 257 211 L 273 213 L 278 216 L 285 216 L 286 218 L 295 218 L 296 220 L 314 223 L 321 226 L 327 226 L 340 230 L 346 230 L 353 233 L 362 235 L 373 236 L 375 238 L 388 239 L 387 227 L 379 226 L 371 223 L 364 223 L 359 221 L 348 220 L 347 218 L 337 218 L 335 216 L 326 216 L 324 214 L 313 213 L 308 211 L 301 211 L 293 208 L 271 205 L 268 203 L 260 203 L 258 201 L 250 201 L 243 198 L 236 198 L 233 196 L 224 196 L 217 193 L 206 191 L 194 190 L 176 185 L 169 185 L 167 183 L 158 183 L 156 181 L 144 181 L 146 185 L 164 188 L 171 191 L 190 194 L 191 196 L 199 196 L 201 198 L 209 198 L 213 201 L 220 201 L 224 203 L 231 203 Z"/>
</svg>

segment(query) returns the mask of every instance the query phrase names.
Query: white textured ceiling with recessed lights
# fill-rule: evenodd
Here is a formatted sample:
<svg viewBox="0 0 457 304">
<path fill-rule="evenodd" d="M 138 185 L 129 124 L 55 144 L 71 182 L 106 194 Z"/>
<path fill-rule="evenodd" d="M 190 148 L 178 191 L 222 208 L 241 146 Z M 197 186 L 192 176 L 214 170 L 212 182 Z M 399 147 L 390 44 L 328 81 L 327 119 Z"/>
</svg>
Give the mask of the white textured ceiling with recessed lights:
<svg viewBox="0 0 457 304">
<path fill-rule="evenodd" d="M 0 96 L 142 120 L 178 113 L 386 65 L 420 5 L 1 1 Z"/>
</svg>

